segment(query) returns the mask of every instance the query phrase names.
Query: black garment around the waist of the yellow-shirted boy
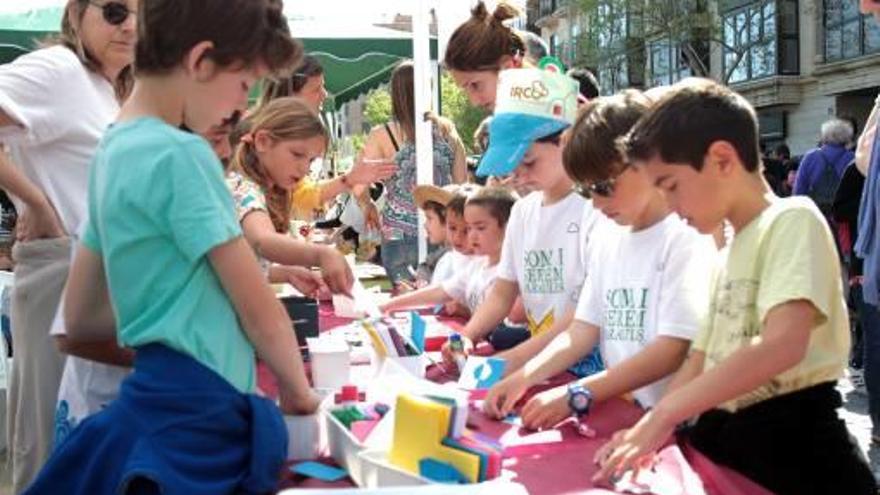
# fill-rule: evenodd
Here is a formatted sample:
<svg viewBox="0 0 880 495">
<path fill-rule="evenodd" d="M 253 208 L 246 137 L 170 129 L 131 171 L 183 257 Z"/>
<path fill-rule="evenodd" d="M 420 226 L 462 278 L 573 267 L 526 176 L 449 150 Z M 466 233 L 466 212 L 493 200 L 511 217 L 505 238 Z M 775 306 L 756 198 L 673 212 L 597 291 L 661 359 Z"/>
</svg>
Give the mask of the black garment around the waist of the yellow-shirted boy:
<svg viewBox="0 0 880 495">
<path fill-rule="evenodd" d="M 712 410 L 683 432 L 691 444 L 780 495 L 876 495 L 877 484 L 828 382 L 736 413 Z"/>
</svg>

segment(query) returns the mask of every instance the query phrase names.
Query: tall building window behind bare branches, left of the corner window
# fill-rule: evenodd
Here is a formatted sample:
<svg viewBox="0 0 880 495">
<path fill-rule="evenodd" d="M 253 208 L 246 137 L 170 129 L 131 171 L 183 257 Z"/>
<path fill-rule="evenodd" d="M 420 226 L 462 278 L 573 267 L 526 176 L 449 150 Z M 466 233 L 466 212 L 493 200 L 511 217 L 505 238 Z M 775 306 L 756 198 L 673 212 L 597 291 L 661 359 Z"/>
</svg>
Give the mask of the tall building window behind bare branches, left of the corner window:
<svg viewBox="0 0 880 495">
<path fill-rule="evenodd" d="M 777 23 L 776 0 L 763 0 L 724 14 L 722 66 L 728 82 L 779 73 Z"/>
</svg>

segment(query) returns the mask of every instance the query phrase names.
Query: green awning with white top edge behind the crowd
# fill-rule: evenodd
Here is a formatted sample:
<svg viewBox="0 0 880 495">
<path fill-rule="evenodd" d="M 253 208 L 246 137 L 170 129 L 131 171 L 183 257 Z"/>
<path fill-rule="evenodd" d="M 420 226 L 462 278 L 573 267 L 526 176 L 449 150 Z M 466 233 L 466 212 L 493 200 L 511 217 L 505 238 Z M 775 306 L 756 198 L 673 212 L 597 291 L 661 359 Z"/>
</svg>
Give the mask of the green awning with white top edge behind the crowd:
<svg viewBox="0 0 880 495">
<path fill-rule="evenodd" d="M 33 50 L 57 32 L 63 7 L 0 14 L 0 63 Z M 340 26 L 326 21 L 290 19 L 291 31 L 324 67 L 327 92 L 335 108 L 388 82 L 394 66 L 412 57 L 412 34 L 379 26 Z M 431 40 L 437 59 L 437 40 Z"/>
</svg>

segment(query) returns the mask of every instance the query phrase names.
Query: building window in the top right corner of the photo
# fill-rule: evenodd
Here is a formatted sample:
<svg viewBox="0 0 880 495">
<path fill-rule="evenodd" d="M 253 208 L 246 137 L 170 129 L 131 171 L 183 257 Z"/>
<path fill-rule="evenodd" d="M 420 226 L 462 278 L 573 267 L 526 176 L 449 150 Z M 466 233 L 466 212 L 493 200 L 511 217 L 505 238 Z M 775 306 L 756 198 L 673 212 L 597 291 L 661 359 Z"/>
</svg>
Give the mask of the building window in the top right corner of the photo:
<svg viewBox="0 0 880 495">
<path fill-rule="evenodd" d="M 880 51 L 880 26 L 859 13 L 858 0 L 825 0 L 825 61 L 834 62 Z"/>
</svg>

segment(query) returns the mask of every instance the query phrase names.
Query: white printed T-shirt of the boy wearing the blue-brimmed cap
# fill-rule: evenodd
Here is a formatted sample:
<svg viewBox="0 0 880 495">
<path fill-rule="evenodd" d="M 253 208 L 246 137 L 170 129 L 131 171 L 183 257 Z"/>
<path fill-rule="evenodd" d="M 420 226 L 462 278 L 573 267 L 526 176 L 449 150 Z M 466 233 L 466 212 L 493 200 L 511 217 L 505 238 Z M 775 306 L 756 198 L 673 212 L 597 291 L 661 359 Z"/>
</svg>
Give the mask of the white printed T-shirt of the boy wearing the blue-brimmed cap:
<svg viewBox="0 0 880 495">
<path fill-rule="evenodd" d="M 517 282 L 532 335 L 548 330 L 577 304 L 586 270 L 586 246 L 601 216 L 572 192 L 550 206 L 537 191 L 516 202 L 498 264 L 498 277 Z"/>
</svg>

